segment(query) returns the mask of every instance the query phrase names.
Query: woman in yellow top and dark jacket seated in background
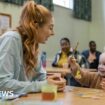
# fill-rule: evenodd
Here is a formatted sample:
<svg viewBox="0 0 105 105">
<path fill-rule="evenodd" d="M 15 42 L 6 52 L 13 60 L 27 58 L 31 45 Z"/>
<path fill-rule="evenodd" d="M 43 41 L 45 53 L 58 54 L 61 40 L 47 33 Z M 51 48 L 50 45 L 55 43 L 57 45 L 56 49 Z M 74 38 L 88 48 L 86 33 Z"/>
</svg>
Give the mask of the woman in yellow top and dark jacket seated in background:
<svg viewBox="0 0 105 105">
<path fill-rule="evenodd" d="M 56 54 L 54 61 L 52 63 L 53 67 L 63 67 L 67 63 L 68 57 L 72 54 L 73 49 L 70 46 L 70 41 L 68 38 L 62 38 L 60 40 L 61 50 Z"/>
</svg>

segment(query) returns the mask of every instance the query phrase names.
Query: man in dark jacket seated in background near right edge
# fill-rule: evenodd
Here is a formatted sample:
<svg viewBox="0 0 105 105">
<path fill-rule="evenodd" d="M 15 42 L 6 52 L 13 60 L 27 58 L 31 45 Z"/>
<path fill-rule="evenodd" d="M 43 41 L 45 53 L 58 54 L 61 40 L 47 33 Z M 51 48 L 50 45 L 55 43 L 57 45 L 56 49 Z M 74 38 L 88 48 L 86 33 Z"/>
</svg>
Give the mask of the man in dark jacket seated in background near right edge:
<svg viewBox="0 0 105 105">
<path fill-rule="evenodd" d="M 82 55 L 86 57 L 89 68 L 97 69 L 99 64 L 99 56 L 101 52 L 96 50 L 96 42 L 90 41 L 89 42 L 89 50 L 85 50 L 82 52 Z"/>
</svg>

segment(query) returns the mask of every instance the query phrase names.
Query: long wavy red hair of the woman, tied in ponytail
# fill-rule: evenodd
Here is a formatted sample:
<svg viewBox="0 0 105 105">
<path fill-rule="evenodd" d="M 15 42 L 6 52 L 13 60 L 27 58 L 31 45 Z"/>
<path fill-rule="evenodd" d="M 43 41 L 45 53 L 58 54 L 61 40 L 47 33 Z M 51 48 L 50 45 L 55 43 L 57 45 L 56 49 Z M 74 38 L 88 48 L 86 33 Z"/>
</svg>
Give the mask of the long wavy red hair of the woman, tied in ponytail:
<svg viewBox="0 0 105 105">
<path fill-rule="evenodd" d="M 33 0 L 25 3 L 20 16 L 18 32 L 22 38 L 23 44 L 23 60 L 27 76 L 35 74 L 34 68 L 37 66 L 38 59 L 38 31 L 43 27 L 49 19 L 52 18 L 51 12 L 44 6 L 36 4 Z"/>
</svg>

